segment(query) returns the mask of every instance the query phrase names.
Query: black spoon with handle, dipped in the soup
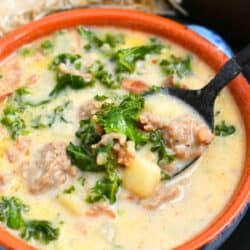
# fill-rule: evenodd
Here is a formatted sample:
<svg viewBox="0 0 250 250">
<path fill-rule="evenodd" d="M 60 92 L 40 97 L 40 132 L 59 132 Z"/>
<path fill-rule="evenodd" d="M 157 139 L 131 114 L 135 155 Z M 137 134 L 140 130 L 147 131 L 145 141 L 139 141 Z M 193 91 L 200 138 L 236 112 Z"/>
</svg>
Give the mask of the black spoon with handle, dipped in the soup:
<svg viewBox="0 0 250 250">
<path fill-rule="evenodd" d="M 181 88 L 162 88 L 161 92 L 177 97 L 196 110 L 207 123 L 214 128 L 214 102 L 221 91 L 232 79 L 239 75 L 247 64 L 250 64 L 250 44 L 228 60 L 215 75 L 215 77 L 203 88 L 187 90 Z M 179 175 L 191 166 L 199 157 L 190 160 L 182 168 L 179 168 L 172 177 Z"/>
</svg>

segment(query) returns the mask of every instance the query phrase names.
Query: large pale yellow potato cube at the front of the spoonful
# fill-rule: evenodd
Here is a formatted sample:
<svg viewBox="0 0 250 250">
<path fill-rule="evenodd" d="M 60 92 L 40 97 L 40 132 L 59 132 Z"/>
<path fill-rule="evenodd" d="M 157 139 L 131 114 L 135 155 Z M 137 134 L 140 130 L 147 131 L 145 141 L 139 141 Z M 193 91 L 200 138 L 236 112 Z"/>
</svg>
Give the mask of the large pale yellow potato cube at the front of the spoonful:
<svg viewBox="0 0 250 250">
<path fill-rule="evenodd" d="M 160 180 L 160 168 L 141 156 L 136 156 L 123 173 L 124 187 L 142 198 L 152 195 Z"/>
</svg>

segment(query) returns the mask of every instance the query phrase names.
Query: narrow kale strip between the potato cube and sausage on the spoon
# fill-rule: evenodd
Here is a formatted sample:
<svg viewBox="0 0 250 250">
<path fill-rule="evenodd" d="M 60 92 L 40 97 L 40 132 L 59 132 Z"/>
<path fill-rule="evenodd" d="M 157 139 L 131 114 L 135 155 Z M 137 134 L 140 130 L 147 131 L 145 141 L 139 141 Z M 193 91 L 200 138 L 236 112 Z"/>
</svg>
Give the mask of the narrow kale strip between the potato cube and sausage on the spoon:
<svg viewBox="0 0 250 250">
<path fill-rule="evenodd" d="M 176 156 L 167 152 L 159 130 L 150 133 L 150 142 L 152 143 L 151 151 L 158 153 L 158 164 L 171 163 L 175 160 Z"/>
</svg>

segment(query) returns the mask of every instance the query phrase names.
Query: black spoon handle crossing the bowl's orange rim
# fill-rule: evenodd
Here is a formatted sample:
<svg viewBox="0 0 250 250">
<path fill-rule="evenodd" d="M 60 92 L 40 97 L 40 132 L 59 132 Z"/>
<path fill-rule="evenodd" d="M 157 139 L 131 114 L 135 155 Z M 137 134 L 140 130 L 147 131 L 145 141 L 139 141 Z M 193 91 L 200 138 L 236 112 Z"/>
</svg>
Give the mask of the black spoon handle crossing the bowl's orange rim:
<svg viewBox="0 0 250 250">
<path fill-rule="evenodd" d="M 222 66 L 209 84 L 201 89 L 201 94 L 213 102 L 221 89 L 242 72 L 243 67 L 248 63 L 250 63 L 250 44 Z"/>
</svg>

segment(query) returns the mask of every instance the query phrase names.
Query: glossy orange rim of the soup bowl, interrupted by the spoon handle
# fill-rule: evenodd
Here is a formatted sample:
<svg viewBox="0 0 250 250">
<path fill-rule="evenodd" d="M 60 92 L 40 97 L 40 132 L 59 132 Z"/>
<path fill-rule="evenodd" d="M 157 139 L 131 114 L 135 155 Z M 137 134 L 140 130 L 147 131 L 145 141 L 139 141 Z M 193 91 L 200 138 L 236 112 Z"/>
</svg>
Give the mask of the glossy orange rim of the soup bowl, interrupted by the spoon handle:
<svg viewBox="0 0 250 250">
<path fill-rule="evenodd" d="M 25 25 L 0 40 L 0 60 L 3 60 L 20 46 L 48 35 L 62 28 L 77 25 L 114 26 L 144 31 L 167 38 L 192 51 L 215 72 L 227 60 L 218 48 L 187 27 L 172 20 L 138 11 L 120 9 L 78 9 L 53 14 Z M 242 75 L 229 86 L 241 112 L 247 136 L 245 167 L 241 179 L 227 206 L 203 231 L 176 249 L 199 249 L 218 244 L 222 235 L 227 235 L 246 211 L 250 190 L 250 86 Z M 225 237 L 224 237 L 225 238 Z M 24 241 L 0 228 L 0 244 L 9 249 L 33 249 Z"/>
</svg>

